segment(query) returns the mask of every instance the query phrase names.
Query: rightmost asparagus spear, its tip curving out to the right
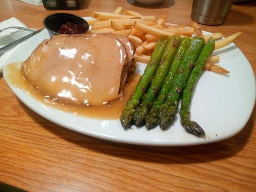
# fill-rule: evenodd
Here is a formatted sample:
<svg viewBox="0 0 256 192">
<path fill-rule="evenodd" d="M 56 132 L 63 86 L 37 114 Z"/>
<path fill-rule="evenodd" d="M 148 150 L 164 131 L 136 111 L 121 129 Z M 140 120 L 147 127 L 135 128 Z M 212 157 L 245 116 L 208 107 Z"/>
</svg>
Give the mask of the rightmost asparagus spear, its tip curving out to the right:
<svg viewBox="0 0 256 192">
<path fill-rule="evenodd" d="M 186 86 L 183 90 L 182 104 L 180 110 L 181 123 L 187 132 L 192 133 L 194 135 L 205 135 L 205 132 L 195 121 L 190 120 L 189 106 L 191 103 L 191 98 L 193 90 L 196 85 L 197 78 L 202 72 L 207 62 L 207 59 L 212 54 L 214 48 L 215 42 L 213 38 L 210 37 L 207 43 L 205 44 L 204 48 L 202 49 L 200 55 L 198 56 L 195 62 L 195 67 L 191 71 Z"/>
</svg>

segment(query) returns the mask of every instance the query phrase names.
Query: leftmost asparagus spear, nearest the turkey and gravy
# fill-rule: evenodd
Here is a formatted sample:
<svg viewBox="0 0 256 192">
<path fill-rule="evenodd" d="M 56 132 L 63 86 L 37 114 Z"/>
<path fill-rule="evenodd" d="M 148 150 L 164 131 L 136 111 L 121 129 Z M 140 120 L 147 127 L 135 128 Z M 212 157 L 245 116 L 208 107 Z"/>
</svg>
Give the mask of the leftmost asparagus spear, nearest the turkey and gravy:
<svg viewBox="0 0 256 192">
<path fill-rule="evenodd" d="M 134 115 L 134 108 L 140 104 L 140 100 L 145 93 L 151 79 L 153 78 L 155 72 L 158 69 L 158 63 L 163 55 L 164 49 L 167 45 L 168 37 L 161 36 L 158 43 L 151 55 L 150 60 L 147 63 L 146 69 L 134 90 L 133 95 L 130 100 L 126 103 L 124 110 L 121 115 L 121 123 L 124 129 L 128 129 L 131 126 L 132 118 Z"/>
</svg>

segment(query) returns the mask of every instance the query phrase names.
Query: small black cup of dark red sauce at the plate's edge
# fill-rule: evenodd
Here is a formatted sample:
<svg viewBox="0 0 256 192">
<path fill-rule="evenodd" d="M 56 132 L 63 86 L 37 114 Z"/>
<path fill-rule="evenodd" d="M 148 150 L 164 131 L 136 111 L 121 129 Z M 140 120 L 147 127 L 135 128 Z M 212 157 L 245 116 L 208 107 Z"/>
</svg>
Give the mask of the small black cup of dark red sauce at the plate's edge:
<svg viewBox="0 0 256 192">
<path fill-rule="evenodd" d="M 44 19 L 44 26 L 50 36 L 60 34 L 84 34 L 89 24 L 82 18 L 70 13 L 54 13 Z"/>
</svg>

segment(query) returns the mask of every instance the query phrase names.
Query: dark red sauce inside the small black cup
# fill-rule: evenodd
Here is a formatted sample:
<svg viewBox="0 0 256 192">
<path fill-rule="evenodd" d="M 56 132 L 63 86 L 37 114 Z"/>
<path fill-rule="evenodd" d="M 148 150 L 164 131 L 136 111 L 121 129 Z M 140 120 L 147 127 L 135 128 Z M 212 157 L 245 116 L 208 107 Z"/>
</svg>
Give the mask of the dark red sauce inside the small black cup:
<svg viewBox="0 0 256 192">
<path fill-rule="evenodd" d="M 80 34 L 85 31 L 85 26 L 83 24 L 73 24 L 71 22 L 67 22 L 66 24 L 62 24 L 59 34 Z"/>
</svg>

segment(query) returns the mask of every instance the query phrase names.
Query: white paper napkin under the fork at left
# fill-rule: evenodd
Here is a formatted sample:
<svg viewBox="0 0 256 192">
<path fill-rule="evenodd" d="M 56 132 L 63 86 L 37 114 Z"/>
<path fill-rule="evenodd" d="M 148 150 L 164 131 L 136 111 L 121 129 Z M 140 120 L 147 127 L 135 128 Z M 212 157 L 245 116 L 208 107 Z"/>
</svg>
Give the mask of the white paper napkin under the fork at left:
<svg viewBox="0 0 256 192">
<path fill-rule="evenodd" d="M 27 27 L 18 19 L 12 17 L 8 20 L 5 20 L 0 23 L 0 29 L 11 27 L 11 26 L 19 26 L 19 27 Z M 19 29 L 7 29 L 0 33 L 0 48 L 8 45 L 14 40 L 19 39 L 22 36 L 28 35 L 31 32 L 21 31 Z M 11 56 L 11 54 L 20 46 L 17 45 L 16 47 L 12 48 L 11 50 L 5 52 L 3 55 L 0 55 L 0 72 L 2 72 L 3 65 L 5 61 Z"/>
</svg>

